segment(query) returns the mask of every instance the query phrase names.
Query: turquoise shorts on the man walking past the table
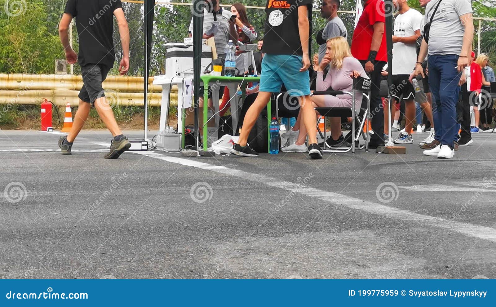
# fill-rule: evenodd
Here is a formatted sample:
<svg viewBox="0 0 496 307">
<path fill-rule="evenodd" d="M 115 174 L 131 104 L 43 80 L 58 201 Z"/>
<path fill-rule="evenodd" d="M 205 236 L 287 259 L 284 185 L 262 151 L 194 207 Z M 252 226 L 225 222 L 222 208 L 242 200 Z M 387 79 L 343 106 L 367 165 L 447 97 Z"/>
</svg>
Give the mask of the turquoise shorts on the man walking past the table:
<svg viewBox="0 0 496 307">
<path fill-rule="evenodd" d="M 280 93 L 284 84 L 291 96 L 310 95 L 310 75 L 301 56 L 265 54 L 260 73 L 260 92 Z"/>
</svg>

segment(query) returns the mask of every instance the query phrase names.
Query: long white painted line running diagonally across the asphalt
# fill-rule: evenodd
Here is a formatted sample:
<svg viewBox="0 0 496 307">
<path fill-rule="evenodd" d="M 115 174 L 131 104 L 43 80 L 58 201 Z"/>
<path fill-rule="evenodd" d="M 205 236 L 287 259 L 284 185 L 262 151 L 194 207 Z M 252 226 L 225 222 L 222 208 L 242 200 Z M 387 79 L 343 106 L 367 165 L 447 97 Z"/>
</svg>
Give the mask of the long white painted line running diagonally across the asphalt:
<svg viewBox="0 0 496 307">
<path fill-rule="evenodd" d="M 365 201 L 362 199 L 342 195 L 339 193 L 323 191 L 312 187 L 302 187 L 302 184 L 284 182 L 281 181 L 280 179 L 267 177 L 264 175 L 252 174 L 245 171 L 235 170 L 224 166 L 211 165 L 194 160 L 164 156 L 162 154 L 153 151 L 143 151 L 143 152 L 134 152 L 134 153 L 163 160 L 166 162 L 182 164 L 182 165 L 191 166 L 207 171 L 217 172 L 229 176 L 236 176 L 242 180 L 249 180 L 259 184 L 265 184 L 268 186 L 281 188 L 287 191 L 297 192 L 306 196 L 319 198 L 320 200 L 323 200 L 325 202 L 332 202 L 336 206 L 341 205 L 347 208 L 357 209 L 367 213 L 380 215 L 395 220 L 401 220 L 407 222 L 421 221 L 427 226 L 443 228 L 449 231 L 458 232 L 466 236 L 496 242 L 496 229 L 492 227 L 473 225 L 473 224 L 462 223 L 457 221 L 449 221 L 440 217 L 433 217 L 429 215 L 414 213 L 408 210 L 398 209 L 395 207 L 386 206 L 371 201 Z M 244 158 L 244 159 L 248 159 L 248 158 Z"/>
</svg>

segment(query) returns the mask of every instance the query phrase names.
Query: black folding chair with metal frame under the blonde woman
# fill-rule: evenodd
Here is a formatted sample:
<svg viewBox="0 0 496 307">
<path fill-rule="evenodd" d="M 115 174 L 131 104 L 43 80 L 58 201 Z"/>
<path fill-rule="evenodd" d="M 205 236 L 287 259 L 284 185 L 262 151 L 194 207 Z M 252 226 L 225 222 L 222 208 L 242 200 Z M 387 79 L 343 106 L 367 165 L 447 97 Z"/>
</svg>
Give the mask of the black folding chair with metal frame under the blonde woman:
<svg viewBox="0 0 496 307">
<path fill-rule="evenodd" d="M 320 117 L 351 117 L 352 118 L 352 131 L 351 131 L 351 146 L 348 147 L 329 147 L 326 142 L 326 130 L 324 129 L 324 149 L 322 152 L 340 152 L 346 153 L 351 150 L 352 154 L 355 153 L 355 150 L 360 150 L 365 148 L 365 151 L 369 151 L 369 125 L 367 124 L 366 132 L 363 131 L 364 125 L 369 119 L 370 122 L 370 89 L 371 89 L 371 80 L 369 78 L 358 77 L 353 79 L 353 88 L 351 92 L 348 91 L 314 91 L 311 96 L 314 95 L 350 95 L 352 97 L 352 107 L 351 108 L 342 108 L 342 107 L 319 107 L 315 108 L 315 110 L 320 114 Z M 356 112 L 355 110 L 355 93 L 361 93 L 366 100 L 367 107 L 360 108 L 362 112 Z M 363 105 L 363 102 L 362 102 Z M 317 120 L 317 123 L 320 121 L 320 118 Z M 359 129 L 356 129 L 356 123 L 358 123 Z M 318 129 L 318 125 L 317 125 Z M 357 133 L 358 131 L 358 133 Z M 320 133 L 320 130 L 319 130 Z M 365 140 L 365 144 L 362 146 L 355 147 L 355 142 L 359 141 L 360 135 L 363 136 Z M 328 147 L 329 149 L 326 149 Z"/>
</svg>

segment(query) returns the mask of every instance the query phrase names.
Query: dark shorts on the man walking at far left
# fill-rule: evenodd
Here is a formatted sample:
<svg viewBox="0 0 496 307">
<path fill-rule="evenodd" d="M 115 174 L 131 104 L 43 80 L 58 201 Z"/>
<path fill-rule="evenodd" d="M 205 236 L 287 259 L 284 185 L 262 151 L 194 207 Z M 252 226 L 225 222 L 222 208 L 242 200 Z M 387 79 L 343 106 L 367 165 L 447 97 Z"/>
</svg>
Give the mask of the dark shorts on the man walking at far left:
<svg viewBox="0 0 496 307">
<path fill-rule="evenodd" d="M 90 103 L 92 106 L 95 100 L 105 97 L 102 82 L 107 78 L 110 68 L 102 64 L 86 64 L 81 66 L 83 75 L 83 87 L 79 91 L 79 99 Z"/>
</svg>

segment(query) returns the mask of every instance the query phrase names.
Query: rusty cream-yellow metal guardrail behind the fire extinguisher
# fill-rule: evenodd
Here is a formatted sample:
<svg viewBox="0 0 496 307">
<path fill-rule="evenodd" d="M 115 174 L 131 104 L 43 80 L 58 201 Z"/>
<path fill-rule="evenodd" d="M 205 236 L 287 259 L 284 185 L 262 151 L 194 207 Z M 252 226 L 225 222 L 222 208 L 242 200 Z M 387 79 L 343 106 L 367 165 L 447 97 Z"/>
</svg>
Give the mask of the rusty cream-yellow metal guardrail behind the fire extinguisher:
<svg viewBox="0 0 496 307">
<path fill-rule="evenodd" d="M 160 106 L 162 87 L 149 80 L 148 104 Z M 0 74 L 0 103 L 36 105 L 43 98 L 59 106 L 79 104 L 80 75 Z M 108 76 L 103 82 L 105 96 L 111 105 L 143 106 L 143 78 Z M 171 91 L 171 103 L 177 103 L 177 88 Z"/>
</svg>

